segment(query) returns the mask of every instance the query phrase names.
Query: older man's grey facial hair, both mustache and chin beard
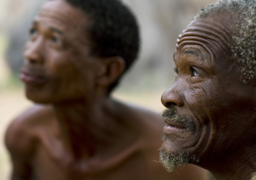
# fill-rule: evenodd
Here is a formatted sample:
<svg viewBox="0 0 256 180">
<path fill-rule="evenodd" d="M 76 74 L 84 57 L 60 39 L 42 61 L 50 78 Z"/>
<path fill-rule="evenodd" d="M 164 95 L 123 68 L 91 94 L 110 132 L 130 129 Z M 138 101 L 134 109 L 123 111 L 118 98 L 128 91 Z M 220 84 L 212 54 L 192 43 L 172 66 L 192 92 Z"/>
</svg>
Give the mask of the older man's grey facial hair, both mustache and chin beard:
<svg viewBox="0 0 256 180">
<path fill-rule="evenodd" d="M 166 122 L 173 121 L 191 132 L 195 132 L 196 130 L 196 123 L 190 118 L 179 116 L 174 108 L 164 110 L 162 116 L 165 118 Z M 165 141 L 166 138 L 167 136 L 164 135 L 162 138 L 163 141 Z M 187 152 L 166 152 L 163 148 L 160 148 L 159 154 L 160 162 L 168 172 L 173 172 L 176 167 L 184 166 L 187 163 L 199 162 L 199 157 L 195 154 L 189 155 Z"/>
</svg>

